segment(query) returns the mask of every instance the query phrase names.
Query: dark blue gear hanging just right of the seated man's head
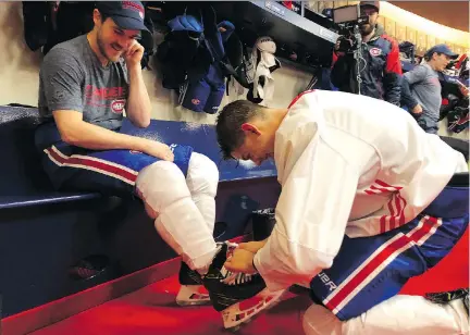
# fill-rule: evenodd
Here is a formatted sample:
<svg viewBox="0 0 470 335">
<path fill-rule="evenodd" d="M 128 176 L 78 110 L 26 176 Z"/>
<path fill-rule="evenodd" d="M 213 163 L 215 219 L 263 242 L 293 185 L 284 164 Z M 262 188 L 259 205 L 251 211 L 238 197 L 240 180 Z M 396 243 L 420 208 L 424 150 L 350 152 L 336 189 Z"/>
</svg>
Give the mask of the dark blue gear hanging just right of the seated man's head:
<svg viewBox="0 0 470 335">
<path fill-rule="evenodd" d="M 215 113 L 225 92 L 225 44 L 235 26 L 217 24 L 211 5 L 185 10 L 169 22 L 170 33 L 158 47 L 162 85 L 178 91 L 178 102 L 195 112 Z"/>
</svg>

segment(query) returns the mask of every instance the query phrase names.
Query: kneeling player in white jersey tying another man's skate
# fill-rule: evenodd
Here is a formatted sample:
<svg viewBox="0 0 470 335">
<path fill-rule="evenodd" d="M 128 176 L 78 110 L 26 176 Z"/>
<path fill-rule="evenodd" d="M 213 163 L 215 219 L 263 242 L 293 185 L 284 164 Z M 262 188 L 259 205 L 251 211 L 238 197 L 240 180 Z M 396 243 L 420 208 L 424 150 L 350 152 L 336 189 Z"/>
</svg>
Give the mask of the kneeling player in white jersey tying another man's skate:
<svg viewBox="0 0 470 335">
<path fill-rule="evenodd" d="M 400 108 L 339 91 L 286 109 L 228 103 L 217 134 L 226 159 L 274 159 L 282 186 L 271 236 L 240 244 L 225 268 L 259 273 L 271 290 L 310 283 L 307 334 L 467 334 L 463 299 L 396 296 L 468 227 L 460 152 Z"/>
</svg>

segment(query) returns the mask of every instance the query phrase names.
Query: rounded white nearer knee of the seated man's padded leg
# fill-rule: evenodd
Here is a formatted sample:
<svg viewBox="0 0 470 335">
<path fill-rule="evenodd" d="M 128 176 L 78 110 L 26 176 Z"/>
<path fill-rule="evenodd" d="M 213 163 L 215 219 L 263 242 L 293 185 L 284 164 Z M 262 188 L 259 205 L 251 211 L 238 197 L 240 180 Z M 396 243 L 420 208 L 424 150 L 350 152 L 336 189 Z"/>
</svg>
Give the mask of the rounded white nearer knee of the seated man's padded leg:
<svg viewBox="0 0 470 335">
<path fill-rule="evenodd" d="M 136 186 L 143 200 L 158 213 L 170 204 L 190 197 L 183 172 L 168 161 L 158 161 L 143 169 L 137 176 Z"/>
</svg>

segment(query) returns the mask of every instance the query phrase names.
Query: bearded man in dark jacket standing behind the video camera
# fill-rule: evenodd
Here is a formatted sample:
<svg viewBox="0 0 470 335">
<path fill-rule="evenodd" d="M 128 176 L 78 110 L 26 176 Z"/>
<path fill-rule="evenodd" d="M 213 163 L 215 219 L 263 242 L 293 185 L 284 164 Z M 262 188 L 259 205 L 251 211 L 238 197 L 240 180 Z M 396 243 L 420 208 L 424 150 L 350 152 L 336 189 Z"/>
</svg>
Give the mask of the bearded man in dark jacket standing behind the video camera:
<svg viewBox="0 0 470 335">
<path fill-rule="evenodd" d="M 362 35 L 361 59 L 358 60 L 360 94 L 399 106 L 401 63 L 398 45 L 378 24 L 380 1 L 361 1 L 360 9 L 361 15 L 369 16 L 369 23 L 359 26 Z M 356 60 L 352 52 L 339 50 L 339 46 L 348 41 L 342 39 L 336 42 L 333 53 L 331 82 L 341 91 L 358 94 Z"/>
</svg>

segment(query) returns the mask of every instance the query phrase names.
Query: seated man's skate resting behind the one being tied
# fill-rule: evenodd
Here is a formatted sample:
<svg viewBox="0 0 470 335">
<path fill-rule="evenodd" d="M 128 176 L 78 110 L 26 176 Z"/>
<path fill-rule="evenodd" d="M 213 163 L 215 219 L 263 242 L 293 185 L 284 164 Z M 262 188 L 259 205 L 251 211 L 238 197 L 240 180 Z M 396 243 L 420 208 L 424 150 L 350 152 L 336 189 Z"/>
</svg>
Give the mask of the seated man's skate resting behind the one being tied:
<svg viewBox="0 0 470 335">
<path fill-rule="evenodd" d="M 180 268 L 178 281 L 182 285 L 176 296 L 176 303 L 180 306 L 200 306 L 209 305 L 209 294 L 202 285 L 202 278 L 197 271 L 182 262 Z"/>
</svg>

